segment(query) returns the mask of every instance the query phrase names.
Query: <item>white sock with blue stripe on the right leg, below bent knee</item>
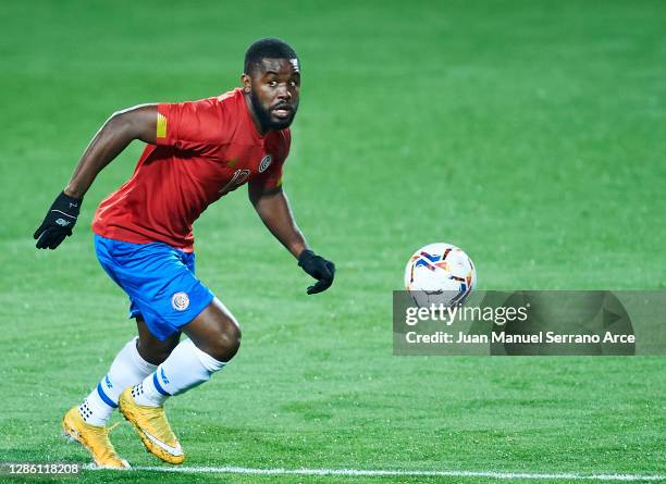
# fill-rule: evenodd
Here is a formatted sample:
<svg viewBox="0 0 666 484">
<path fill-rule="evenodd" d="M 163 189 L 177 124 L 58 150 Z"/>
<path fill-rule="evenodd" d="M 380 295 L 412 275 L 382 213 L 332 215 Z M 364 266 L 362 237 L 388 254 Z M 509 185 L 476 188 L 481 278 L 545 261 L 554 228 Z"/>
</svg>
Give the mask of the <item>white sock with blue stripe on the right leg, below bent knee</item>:
<svg viewBox="0 0 666 484">
<path fill-rule="evenodd" d="M 225 364 L 201 351 L 192 339 L 184 339 L 152 374 L 132 388 L 132 396 L 138 405 L 160 407 L 166 398 L 207 382 Z"/>
</svg>

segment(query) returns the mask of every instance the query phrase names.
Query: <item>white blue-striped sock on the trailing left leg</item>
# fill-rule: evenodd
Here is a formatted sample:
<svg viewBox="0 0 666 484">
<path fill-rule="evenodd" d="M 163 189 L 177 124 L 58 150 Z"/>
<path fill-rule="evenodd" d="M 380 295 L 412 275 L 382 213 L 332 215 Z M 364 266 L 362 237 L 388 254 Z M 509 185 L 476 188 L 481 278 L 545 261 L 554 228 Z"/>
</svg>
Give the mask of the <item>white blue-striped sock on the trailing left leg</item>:
<svg viewBox="0 0 666 484">
<path fill-rule="evenodd" d="M 113 409 L 118 408 L 118 397 L 128 386 L 136 385 L 157 368 L 141 358 L 136 349 L 135 337 L 115 356 L 109 373 L 97 384 L 90 395 L 78 407 L 84 421 L 90 425 L 106 425 Z"/>
</svg>

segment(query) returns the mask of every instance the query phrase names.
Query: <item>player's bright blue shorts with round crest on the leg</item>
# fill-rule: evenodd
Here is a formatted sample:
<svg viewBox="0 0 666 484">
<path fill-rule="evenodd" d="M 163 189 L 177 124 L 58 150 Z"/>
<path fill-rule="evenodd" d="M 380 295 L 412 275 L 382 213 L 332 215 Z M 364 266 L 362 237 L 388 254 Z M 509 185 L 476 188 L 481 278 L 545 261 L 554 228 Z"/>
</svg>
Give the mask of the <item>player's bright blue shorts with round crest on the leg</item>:
<svg viewBox="0 0 666 484">
<path fill-rule="evenodd" d="M 181 331 L 213 298 L 195 277 L 194 253 L 163 243 L 131 244 L 99 235 L 95 251 L 107 274 L 130 296 L 130 318 L 144 317 L 161 340 Z"/>
</svg>

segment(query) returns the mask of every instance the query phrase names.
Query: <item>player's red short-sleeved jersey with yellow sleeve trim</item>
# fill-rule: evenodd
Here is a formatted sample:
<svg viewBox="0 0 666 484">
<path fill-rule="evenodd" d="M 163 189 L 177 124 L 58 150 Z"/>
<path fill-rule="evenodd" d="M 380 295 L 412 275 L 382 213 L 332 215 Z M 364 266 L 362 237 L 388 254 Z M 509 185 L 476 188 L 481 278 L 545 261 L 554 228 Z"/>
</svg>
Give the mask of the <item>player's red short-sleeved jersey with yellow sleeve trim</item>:
<svg viewBox="0 0 666 484">
<path fill-rule="evenodd" d="M 158 104 L 157 145 L 146 147 L 132 178 L 100 203 L 92 232 L 190 252 L 192 224 L 210 203 L 249 181 L 282 184 L 289 144 L 288 128 L 259 135 L 239 88 Z"/>
</svg>

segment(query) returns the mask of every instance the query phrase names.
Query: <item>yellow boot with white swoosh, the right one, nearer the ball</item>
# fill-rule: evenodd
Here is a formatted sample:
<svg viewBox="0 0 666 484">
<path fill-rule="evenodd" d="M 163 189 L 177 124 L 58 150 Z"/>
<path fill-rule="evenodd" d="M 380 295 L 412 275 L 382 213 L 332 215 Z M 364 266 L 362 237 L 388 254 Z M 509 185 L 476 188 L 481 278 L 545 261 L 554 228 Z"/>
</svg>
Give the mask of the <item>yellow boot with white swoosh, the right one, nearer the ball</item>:
<svg viewBox="0 0 666 484">
<path fill-rule="evenodd" d="M 169 425 L 164 407 L 138 405 L 132 396 L 132 387 L 125 388 L 121 394 L 118 407 L 125 419 L 134 425 L 149 452 L 164 462 L 183 463 L 185 454 Z"/>
</svg>

